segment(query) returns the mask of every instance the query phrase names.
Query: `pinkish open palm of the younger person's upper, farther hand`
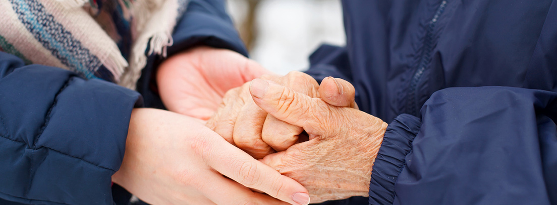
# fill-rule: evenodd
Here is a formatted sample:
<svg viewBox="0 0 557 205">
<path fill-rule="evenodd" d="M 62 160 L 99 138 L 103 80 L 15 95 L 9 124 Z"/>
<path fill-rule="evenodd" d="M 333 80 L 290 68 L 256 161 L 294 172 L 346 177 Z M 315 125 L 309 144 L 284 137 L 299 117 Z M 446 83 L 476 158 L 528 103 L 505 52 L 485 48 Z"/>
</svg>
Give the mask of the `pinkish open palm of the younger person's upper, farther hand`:
<svg viewBox="0 0 557 205">
<path fill-rule="evenodd" d="M 157 82 L 170 111 L 208 120 L 226 91 L 265 73 L 231 50 L 199 47 L 167 59 L 159 67 Z"/>
</svg>

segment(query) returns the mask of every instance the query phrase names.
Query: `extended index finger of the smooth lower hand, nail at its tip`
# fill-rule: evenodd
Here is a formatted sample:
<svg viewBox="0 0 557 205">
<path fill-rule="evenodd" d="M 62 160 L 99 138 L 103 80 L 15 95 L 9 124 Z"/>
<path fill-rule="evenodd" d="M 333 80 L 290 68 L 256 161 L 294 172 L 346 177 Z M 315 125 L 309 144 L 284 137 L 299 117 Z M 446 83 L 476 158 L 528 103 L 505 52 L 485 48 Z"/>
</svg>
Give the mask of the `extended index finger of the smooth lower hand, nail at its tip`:
<svg viewBox="0 0 557 205">
<path fill-rule="evenodd" d="M 291 204 L 308 204 L 307 189 L 273 168 L 255 160 L 238 147 L 215 137 L 214 147 L 206 147 L 203 155 L 207 165 L 222 175 L 249 188 L 261 190 Z M 210 146 L 210 145 L 205 145 Z"/>
</svg>

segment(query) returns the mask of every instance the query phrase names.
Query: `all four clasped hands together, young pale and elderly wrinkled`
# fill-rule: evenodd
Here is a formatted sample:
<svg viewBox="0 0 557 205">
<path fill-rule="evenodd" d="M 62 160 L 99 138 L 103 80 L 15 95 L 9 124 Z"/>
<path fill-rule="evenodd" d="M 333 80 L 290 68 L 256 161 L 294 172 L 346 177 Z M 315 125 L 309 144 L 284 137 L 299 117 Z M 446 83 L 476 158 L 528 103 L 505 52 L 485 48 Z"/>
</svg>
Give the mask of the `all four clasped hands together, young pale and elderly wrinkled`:
<svg viewBox="0 0 557 205">
<path fill-rule="evenodd" d="M 307 204 L 368 195 L 387 124 L 357 109 L 348 81 L 272 75 L 230 50 L 197 47 L 160 65 L 157 83 L 168 110 L 183 115 L 135 109 L 113 176 L 144 201 Z"/>
</svg>

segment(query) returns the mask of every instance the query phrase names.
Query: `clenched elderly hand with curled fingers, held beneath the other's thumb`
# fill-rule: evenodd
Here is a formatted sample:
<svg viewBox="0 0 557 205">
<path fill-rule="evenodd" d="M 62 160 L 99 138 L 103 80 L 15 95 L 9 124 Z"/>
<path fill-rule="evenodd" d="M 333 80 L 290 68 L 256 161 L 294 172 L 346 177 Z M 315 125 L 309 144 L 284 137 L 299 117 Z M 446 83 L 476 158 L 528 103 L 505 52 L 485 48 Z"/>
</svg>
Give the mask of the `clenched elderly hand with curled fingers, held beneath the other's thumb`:
<svg viewBox="0 0 557 205">
<path fill-rule="evenodd" d="M 320 86 L 314 78 L 298 71 L 285 76 L 267 74 L 261 78 L 273 80 L 308 96 L 323 98 L 331 105 L 356 106 L 354 87 L 342 79 L 328 77 Z M 284 151 L 295 143 L 304 141 L 303 135 L 300 137 L 304 129 L 267 115 L 251 99 L 249 88 L 248 82 L 229 90 L 207 126 L 255 158 Z"/>
</svg>

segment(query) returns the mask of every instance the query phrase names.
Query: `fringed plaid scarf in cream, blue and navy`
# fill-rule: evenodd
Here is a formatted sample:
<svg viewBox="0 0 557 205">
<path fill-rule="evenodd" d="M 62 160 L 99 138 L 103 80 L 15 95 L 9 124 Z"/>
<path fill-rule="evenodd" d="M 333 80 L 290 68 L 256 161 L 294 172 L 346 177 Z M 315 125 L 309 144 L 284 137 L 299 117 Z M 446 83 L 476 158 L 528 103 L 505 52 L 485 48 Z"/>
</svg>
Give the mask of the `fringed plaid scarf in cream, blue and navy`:
<svg viewBox="0 0 557 205">
<path fill-rule="evenodd" d="M 0 0 L 0 50 L 126 88 L 165 56 L 187 0 Z M 149 48 L 149 50 L 147 50 Z"/>
</svg>

